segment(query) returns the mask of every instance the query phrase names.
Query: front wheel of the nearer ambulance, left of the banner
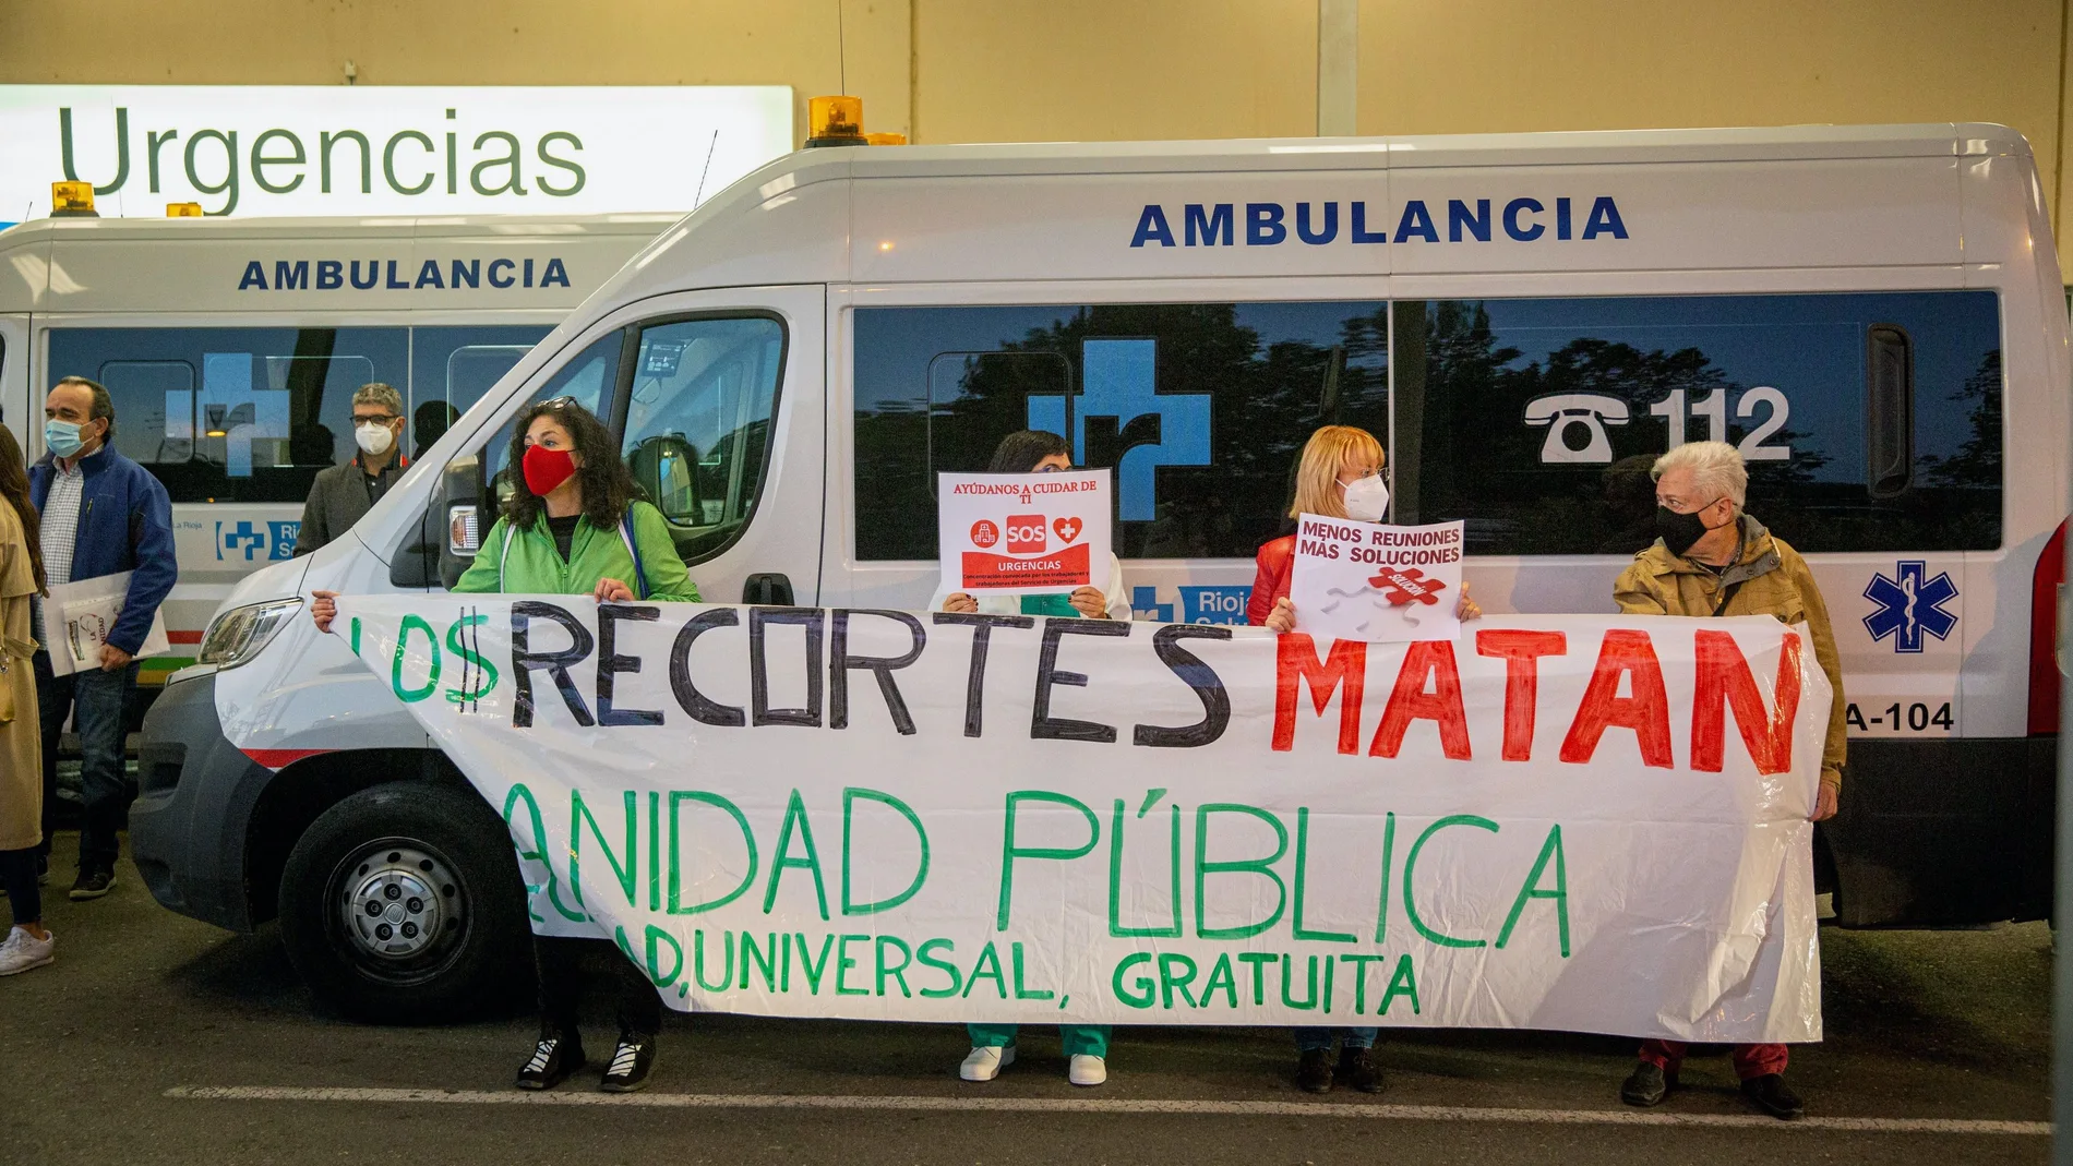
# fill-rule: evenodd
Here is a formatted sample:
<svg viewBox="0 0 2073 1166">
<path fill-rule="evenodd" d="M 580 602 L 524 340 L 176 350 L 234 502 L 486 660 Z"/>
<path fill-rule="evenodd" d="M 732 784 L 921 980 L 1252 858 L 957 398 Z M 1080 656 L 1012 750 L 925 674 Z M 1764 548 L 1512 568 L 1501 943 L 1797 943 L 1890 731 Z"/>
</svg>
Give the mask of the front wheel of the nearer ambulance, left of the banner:
<svg viewBox="0 0 2073 1166">
<path fill-rule="evenodd" d="M 462 1019 L 533 986 L 518 859 L 464 789 L 377 785 L 325 810 L 282 870 L 280 934 L 311 992 L 369 1023 Z"/>
</svg>

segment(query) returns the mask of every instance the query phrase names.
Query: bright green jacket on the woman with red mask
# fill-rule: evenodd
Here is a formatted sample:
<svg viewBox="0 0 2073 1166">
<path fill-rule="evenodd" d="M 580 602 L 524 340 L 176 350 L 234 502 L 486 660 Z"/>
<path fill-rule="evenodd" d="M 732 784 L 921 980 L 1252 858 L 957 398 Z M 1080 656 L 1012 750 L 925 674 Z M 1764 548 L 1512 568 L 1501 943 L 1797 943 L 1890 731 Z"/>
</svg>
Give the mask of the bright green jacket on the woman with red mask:
<svg viewBox="0 0 2073 1166">
<path fill-rule="evenodd" d="M 645 501 L 632 503 L 632 518 L 634 545 L 641 547 L 641 567 L 649 584 L 643 599 L 699 603 L 699 584 L 690 582 L 690 572 L 684 570 L 684 559 L 676 553 L 670 520 Z M 626 541 L 616 528 L 599 530 L 591 526 L 589 518 L 576 520 L 576 536 L 568 543 L 566 563 L 553 545 L 553 532 L 547 530 L 545 512 L 539 514 L 531 530 L 516 532 L 516 543 L 506 555 L 504 541 L 512 536 L 510 520 L 500 518 L 454 590 L 591 594 L 597 580 L 620 580 L 634 592 L 641 590 L 634 578 L 634 559 L 626 553 Z"/>
</svg>

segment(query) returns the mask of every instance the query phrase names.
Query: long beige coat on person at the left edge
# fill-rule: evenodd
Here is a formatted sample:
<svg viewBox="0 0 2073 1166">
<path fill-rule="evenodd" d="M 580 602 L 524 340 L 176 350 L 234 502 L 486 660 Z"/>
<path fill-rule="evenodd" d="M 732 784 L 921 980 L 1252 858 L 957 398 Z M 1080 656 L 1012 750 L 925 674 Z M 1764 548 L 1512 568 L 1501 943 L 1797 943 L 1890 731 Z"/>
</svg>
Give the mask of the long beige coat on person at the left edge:
<svg viewBox="0 0 2073 1166">
<path fill-rule="evenodd" d="M 44 841 L 44 731 L 35 715 L 35 570 L 21 516 L 0 499 L 0 851 Z"/>
</svg>

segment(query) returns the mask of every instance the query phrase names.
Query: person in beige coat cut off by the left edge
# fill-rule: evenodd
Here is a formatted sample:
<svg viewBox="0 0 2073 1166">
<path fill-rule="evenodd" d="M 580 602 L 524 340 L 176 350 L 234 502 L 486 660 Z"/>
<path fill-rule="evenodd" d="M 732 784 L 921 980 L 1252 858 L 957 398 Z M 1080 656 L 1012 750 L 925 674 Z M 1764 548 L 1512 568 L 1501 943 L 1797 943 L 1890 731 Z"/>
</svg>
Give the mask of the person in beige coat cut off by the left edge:
<svg viewBox="0 0 2073 1166">
<path fill-rule="evenodd" d="M 56 959 L 44 928 L 37 845 L 44 841 L 44 733 L 35 712 L 35 654 L 29 603 L 44 594 L 44 549 L 29 468 L 15 433 L 0 425 L 0 886 L 15 928 L 0 942 L 0 975 Z"/>
</svg>

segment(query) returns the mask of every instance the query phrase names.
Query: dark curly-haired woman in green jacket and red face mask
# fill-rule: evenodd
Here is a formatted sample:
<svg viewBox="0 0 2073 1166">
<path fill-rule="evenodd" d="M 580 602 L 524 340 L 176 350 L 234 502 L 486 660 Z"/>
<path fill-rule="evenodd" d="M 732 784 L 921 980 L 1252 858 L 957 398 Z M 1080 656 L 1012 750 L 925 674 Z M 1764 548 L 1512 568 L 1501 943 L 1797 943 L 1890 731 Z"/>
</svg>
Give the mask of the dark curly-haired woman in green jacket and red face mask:
<svg viewBox="0 0 2073 1166">
<path fill-rule="evenodd" d="M 512 493 L 456 592 L 589 594 L 597 603 L 697 603 L 699 588 L 670 541 L 670 524 L 634 497 L 612 431 L 572 398 L 518 414 L 508 466 Z M 336 592 L 313 592 L 311 615 L 330 632 Z M 518 1069 L 520 1089 L 551 1089 L 583 1067 L 576 1011 L 585 963 L 612 967 L 620 1042 L 603 1089 L 630 1094 L 655 1065 L 661 998 L 605 938 L 533 936 L 539 971 L 539 1044 Z"/>
</svg>

